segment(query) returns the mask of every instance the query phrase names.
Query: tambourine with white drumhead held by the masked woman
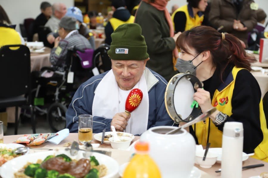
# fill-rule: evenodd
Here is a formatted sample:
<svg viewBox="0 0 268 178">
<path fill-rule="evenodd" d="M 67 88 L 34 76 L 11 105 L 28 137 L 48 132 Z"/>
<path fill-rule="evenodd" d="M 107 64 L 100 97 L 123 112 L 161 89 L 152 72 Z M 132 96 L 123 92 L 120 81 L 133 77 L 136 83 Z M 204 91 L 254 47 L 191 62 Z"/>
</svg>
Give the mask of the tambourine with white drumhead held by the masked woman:
<svg viewBox="0 0 268 178">
<path fill-rule="evenodd" d="M 202 82 L 193 74 L 176 74 L 166 86 L 165 105 L 169 116 L 175 121 L 190 122 L 200 115 L 200 107 L 193 106 L 194 93 L 202 88 Z"/>
</svg>

